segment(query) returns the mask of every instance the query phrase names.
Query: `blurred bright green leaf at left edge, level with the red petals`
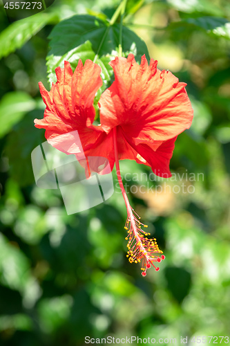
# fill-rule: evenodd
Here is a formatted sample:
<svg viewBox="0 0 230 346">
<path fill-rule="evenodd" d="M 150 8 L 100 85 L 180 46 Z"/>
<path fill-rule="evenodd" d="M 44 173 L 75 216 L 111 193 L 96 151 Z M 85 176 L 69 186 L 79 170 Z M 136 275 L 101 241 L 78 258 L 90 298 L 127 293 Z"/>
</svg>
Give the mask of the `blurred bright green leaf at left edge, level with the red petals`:
<svg viewBox="0 0 230 346">
<path fill-rule="evenodd" d="M 6 94 L 0 102 L 0 138 L 23 118 L 27 111 L 35 109 L 35 100 L 28 93 L 12 91 Z"/>
</svg>

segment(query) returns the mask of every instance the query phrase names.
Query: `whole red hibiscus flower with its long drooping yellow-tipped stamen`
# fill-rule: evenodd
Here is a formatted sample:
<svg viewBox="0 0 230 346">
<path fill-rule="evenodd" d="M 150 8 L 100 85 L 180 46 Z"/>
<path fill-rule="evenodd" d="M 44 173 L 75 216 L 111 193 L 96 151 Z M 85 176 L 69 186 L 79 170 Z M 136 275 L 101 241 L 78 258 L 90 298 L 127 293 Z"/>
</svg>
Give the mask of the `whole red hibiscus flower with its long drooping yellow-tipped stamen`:
<svg viewBox="0 0 230 346">
<path fill-rule="evenodd" d="M 100 67 L 91 60 L 84 66 L 79 60 L 73 73 L 70 64 L 57 68 L 57 83 L 50 92 L 39 83 L 46 104 L 44 119 L 35 119 L 35 126 L 46 129 L 48 143 L 66 154 L 79 158 L 79 134 L 84 154 L 108 158 L 111 169 L 116 163 L 117 177 L 128 212 L 128 257 L 141 262 L 142 275 L 153 262 L 164 259 L 155 239 L 148 239 L 139 217 L 131 208 L 119 174 L 119 160 L 132 159 L 151 167 L 158 176 L 171 176 L 169 162 L 175 140 L 191 126 L 193 109 L 185 90 L 169 71 L 157 69 L 143 55 L 141 64 L 129 54 L 110 62 L 115 81 L 99 99 L 100 126 L 93 125 L 95 93 L 102 86 Z M 61 136 L 60 136 L 61 135 Z M 158 267 L 155 267 L 158 270 Z"/>
</svg>

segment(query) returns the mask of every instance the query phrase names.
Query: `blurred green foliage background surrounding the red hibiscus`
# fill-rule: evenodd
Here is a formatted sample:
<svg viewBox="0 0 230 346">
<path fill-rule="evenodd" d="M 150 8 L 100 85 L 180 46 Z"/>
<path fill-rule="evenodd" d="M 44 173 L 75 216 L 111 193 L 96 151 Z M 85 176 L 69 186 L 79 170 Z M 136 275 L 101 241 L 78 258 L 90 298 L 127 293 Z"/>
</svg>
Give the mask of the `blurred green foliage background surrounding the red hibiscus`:
<svg viewBox="0 0 230 346">
<path fill-rule="evenodd" d="M 118 4 L 57 1 L 30 25 L 9 24 L 1 5 L 2 346 L 78 346 L 85 336 L 107 335 L 230 336 L 229 1 L 128 0 L 125 25 L 160 69 L 188 84 L 194 109 L 191 129 L 175 143 L 176 181 L 153 181 L 148 167 L 121 163 L 132 206 L 166 255 L 158 273 L 144 278 L 126 259 L 115 174 L 111 199 L 69 216 L 59 191 L 35 185 L 30 155 L 45 138 L 33 119 L 44 113 L 37 82 L 49 89 L 48 35 L 75 14 L 111 17 Z M 195 179 L 186 179 L 192 173 Z"/>
</svg>

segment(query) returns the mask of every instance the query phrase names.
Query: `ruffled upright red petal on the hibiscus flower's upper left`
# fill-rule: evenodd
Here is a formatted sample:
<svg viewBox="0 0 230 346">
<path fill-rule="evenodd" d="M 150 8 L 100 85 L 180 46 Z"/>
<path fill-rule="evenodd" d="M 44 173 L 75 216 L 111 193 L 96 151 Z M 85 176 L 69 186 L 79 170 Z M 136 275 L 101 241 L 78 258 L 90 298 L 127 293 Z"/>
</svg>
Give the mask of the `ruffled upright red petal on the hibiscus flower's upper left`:
<svg viewBox="0 0 230 346">
<path fill-rule="evenodd" d="M 86 60 L 83 66 L 79 60 L 74 74 L 69 62 L 65 62 L 64 69 L 58 67 L 55 72 L 57 83 L 52 84 L 50 92 L 39 83 L 46 110 L 44 119 L 35 119 L 35 127 L 46 129 L 47 139 L 75 130 L 83 134 L 95 118 L 93 99 L 102 86 L 101 68 L 91 60 Z M 91 130 L 96 131 L 96 138 L 102 131 L 93 126 Z"/>
</svg>

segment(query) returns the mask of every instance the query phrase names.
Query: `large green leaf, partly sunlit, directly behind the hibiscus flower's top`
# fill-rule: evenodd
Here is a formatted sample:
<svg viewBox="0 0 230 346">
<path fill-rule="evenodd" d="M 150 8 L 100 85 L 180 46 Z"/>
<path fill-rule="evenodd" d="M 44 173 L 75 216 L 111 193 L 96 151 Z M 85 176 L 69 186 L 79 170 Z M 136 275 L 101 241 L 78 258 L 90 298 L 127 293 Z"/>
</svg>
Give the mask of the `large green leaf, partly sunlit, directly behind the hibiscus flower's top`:
<svg viewBox="0 0 230 346">
<path fill-rule="evenodd" d="M 61 21 L 52 30 L 49 38 L 50 53 L 48 55 L 48 80 L 50 84 L 56 82 L 55 69 L 64 67 L 68 60 L 73 69 L 79 59 L 94 60 L 102 68 L 104 86 L 97 93 L 97 97 L 108 86 L 113 75 L 113 69 L 108 62 L 117 55 L 119 44 L 119 25 L 110 26 L 107 21 L 102 21 L 90 15 L 76 15 Z M 122 31 L 122 48 L 124 55 L 134 53 L 137 62 L 143 54 L 148 58 L 146 44 L 128 28 Z"/>
</svg>

